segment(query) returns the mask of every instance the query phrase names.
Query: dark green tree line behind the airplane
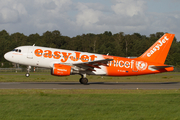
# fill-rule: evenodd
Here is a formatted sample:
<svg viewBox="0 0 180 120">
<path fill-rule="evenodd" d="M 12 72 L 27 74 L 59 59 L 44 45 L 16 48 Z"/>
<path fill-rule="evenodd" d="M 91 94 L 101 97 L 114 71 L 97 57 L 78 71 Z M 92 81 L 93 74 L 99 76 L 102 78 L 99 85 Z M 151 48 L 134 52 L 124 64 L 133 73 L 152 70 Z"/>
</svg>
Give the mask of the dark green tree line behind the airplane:
<svg viewBox="0 0 180 120">
<path fill-rule="evenodd" d="M 12 67 L 4 59 L 4 54 L 18 46 L 33 45 L 51 48 L 68 49 L 75 51 L 109 54 L 121 57 L 138 57 L 154 44 L 164 32 L 157 32 L 149 36 L 139 33 L 124 34 L 119 32 L 112 34 L 105 31 L 101 34 L 82 34 L 76 37 L 63 36 L 60 31 L 46 31 L 42 35 L 22 33 L 9 34 L 6 30 L 0 31 L 0 67 Z M 165 64 L 180 67 L 180 42 L 176 37 L 172 43 Z"/>
</svg>

